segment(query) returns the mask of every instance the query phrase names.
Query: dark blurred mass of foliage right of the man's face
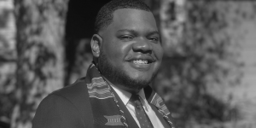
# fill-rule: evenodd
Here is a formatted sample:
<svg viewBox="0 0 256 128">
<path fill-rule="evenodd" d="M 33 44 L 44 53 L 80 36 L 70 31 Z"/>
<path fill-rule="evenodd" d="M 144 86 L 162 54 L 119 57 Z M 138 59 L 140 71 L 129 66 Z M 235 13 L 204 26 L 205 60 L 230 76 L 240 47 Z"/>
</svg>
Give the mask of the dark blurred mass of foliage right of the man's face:
<svg viewBox="0 0 256 128">
<path fill-rule="evenodd" d="M 240 82 L 238 77 L 229 78 L 241 63 L 229 49 L 227 10 L 219 8 L 217 3 L 187 2 L 183 37 L 169 49 L 172 54 L 164 57 L 154 82 L 154 88 L 165 98 L 177 119 L 178 127 L 197 127 L 195 124 L 210 127 L 216 122 L 240 118 L 238 109 L 231 107 L 230 101 L 224 102 L 218 93 L 210 93 L 212 86 L 222 88 L 226 81 Z"/>
</svg>

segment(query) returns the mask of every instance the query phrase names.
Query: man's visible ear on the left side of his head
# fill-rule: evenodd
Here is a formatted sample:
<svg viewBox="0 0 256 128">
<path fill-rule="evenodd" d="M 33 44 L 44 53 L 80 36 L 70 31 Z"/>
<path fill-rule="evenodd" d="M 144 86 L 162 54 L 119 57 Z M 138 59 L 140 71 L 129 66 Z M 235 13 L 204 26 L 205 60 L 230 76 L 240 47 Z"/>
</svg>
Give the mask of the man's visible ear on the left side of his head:
<svg viewBox="0 0 256 128">
<path fill-rule="evenodd" d="M 100 47 L 102 44 L 102 37 L 98 34 L 94 34 L 90 40 L 90 48 L 92 51 L 92 55 L 96 58 L 100 56 Z"/>
</svg>

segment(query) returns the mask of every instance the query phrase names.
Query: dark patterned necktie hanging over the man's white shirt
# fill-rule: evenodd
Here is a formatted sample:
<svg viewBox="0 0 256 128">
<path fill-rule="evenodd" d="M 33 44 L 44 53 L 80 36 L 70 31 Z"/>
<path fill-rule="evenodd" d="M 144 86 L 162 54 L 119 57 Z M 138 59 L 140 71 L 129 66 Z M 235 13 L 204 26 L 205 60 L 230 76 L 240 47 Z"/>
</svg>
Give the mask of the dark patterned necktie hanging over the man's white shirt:
<svg viewBox="0 0 256 128">
<path fill-rule="evenodd" d="M 141 128 L 153 128 L 154 126 L 151 124 L 150 119 L 148 119 L 148 115 L 143 109 L 143 105 L 142 102 L 140 102 L 139 96 L 132 95 L 130 102 L 135 108 L 136 117 L 141 125 Z"/>
</svg>

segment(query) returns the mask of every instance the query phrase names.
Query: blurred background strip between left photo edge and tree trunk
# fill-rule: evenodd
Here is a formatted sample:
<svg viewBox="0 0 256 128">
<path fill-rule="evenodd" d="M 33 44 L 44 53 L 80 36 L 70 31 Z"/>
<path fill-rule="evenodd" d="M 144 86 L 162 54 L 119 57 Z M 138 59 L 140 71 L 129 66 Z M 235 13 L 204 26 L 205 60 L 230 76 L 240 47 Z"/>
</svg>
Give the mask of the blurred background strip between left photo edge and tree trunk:
<svg viewBox="0 0 256 128">
<path fill-rule="evenodd" d="M 14 38 L 10 35 L 12 28 L 9 26 L 11 21 L 12 9 L 2 4 L 3 8 L 0 8 L 0 127 L 2 125 L 9 126 L 6 122 L 12 113 L 14 106 L 14 96 L 12 90 L 14 90 L 13 84 L 15 84 L 15 51 L 14 45 L 11 41 Z M 6 5 L 6 6 L 3 6 Z M 5 122 L 2 122 L 5 121 Z"/>
</svg>

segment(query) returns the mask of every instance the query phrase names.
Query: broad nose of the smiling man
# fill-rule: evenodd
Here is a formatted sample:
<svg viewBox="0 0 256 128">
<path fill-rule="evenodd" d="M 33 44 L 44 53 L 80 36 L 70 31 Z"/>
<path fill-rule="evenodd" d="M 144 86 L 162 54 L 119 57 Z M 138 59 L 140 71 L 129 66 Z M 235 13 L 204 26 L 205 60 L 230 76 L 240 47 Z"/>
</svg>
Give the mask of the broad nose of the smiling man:
<svg viewBox="0 0 256 128">
<path fill-rule="evenodd" d="M 151 53 L 153 46 L 147 39 L 141 38 L 138 39 L 137 42 L 132 45 L 132 49 L 135 52 Z"/>
</svg>

